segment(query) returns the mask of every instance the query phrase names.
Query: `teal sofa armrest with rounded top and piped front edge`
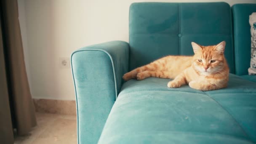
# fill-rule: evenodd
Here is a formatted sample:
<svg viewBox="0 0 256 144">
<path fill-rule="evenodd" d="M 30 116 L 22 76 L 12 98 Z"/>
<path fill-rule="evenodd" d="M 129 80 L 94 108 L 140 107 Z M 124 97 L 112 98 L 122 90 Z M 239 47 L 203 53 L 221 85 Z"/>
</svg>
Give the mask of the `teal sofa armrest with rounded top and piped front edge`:
<svg viewBox="0 0 256 144">
<path fill-rule="evenodd" d="M 96 144 L 128 71 L 129 45 L 111 41 L 71 55 L 78 144 Z"/>
</svg>

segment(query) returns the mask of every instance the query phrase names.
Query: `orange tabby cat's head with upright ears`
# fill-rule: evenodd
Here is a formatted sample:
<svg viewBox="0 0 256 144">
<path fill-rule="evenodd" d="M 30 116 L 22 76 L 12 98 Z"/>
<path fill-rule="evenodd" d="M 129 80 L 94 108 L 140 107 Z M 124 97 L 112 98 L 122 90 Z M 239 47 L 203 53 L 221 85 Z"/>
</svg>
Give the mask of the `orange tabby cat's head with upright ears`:
<svg viewBox="0 0 256 144">
<path fill-rule="evenodd" d="M 191 44 L 195 53 L 192 66 L 197 72 L 202 75 L 211 75 L 227 67 L 224 57 L 225 41 L 210 46 L 202 46 L 194 42 Z"/>
</svg>

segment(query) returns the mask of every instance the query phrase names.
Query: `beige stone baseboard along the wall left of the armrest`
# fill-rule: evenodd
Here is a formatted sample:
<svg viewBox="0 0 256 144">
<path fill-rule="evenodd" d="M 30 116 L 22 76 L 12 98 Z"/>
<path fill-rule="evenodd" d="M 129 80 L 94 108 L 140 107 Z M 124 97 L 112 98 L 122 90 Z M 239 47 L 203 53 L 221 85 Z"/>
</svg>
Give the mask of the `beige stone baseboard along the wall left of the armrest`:
<svg viewBox="0 0 256 144">
<path fill-rule="evenodd" d="M 69 100 L 33 99 L 36 112 L 76 115 L 76 103 Z"/>
</svg>

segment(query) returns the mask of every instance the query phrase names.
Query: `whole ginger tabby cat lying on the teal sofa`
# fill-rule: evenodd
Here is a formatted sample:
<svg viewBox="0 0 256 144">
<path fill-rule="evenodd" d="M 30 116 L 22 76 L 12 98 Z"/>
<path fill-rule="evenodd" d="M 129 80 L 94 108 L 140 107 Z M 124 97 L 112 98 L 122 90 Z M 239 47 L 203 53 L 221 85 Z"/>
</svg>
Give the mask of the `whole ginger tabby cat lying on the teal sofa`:
<svg viewBox="0 0 256 144">
<path fill-rule="evenodd" d="M 226 42 L 201 46 L 191 43 L 194 56 L 165 56 L 123 75 L 124 80 L 143 80 L 147 77 L 174 79 L 169 88 L 189 84 L 191 88 L 211 91 L 227 87 L 229 67 L 224 57 Z"/>
</svg>

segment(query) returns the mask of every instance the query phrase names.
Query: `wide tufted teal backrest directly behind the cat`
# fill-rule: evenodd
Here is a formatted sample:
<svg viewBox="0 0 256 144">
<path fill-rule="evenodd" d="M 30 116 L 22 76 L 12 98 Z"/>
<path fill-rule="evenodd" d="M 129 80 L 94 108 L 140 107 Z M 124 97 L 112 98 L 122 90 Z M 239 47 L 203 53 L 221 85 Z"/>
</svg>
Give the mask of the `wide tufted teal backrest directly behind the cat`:
<svg viewBox="0 0 256 144">
<path fill-rule="evenodd" d="M 167 55 L 193 55 L 191 42 L 226 41 L 234 72 L 231 8 L 227 3 L 133 3 L 129 16 L 129 70 Z"/>
</svg>

